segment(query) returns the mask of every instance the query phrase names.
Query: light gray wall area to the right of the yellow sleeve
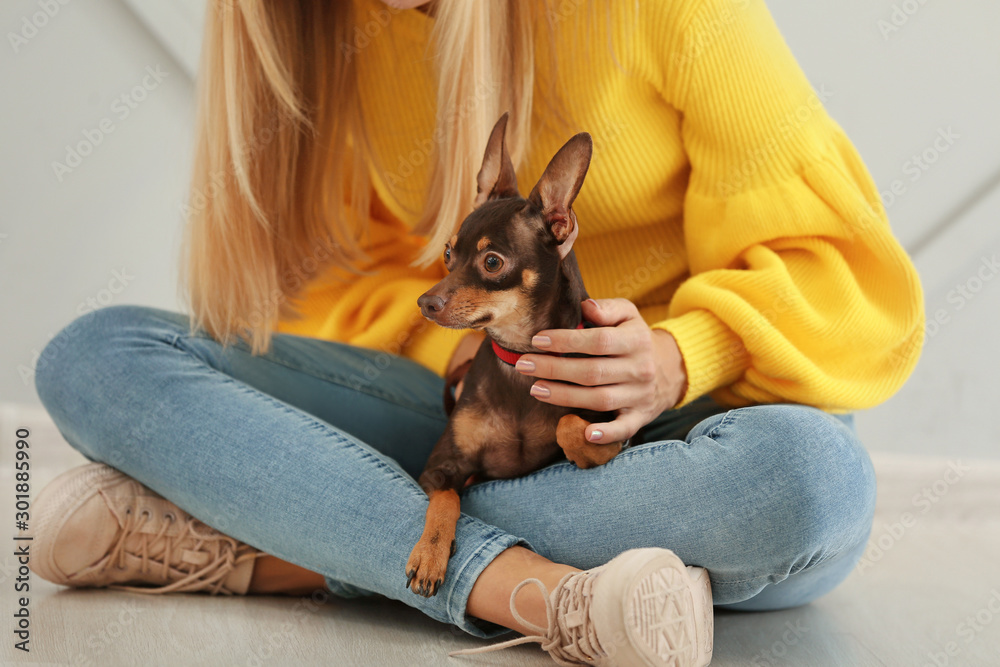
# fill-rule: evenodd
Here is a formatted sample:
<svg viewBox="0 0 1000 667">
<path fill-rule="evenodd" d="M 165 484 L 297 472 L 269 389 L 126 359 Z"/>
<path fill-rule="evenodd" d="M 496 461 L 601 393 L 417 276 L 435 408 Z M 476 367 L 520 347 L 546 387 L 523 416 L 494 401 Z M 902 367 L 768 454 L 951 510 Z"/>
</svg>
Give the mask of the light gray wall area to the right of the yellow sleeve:
<svg viewBox="0 0 1000 667">
<path fill-rule="evenodd" d="M 1000 259 L 1000 3 L 768 4 L 813 86 L 834 92 L 827 108 L 884 193 L 933 320 L 913 375 L 857 415 L 859 434 L 871 449 L 1000 458 L 1000 276 L 983 268 Z"/>
</svg>

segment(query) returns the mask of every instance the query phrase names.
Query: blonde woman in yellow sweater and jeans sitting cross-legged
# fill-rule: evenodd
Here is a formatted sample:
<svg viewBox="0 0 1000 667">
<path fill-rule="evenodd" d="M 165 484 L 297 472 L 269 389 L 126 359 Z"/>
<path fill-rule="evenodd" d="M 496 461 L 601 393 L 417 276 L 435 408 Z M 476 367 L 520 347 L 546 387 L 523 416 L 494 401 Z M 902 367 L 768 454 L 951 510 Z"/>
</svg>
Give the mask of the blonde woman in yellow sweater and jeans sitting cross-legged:
<svg viewBox="0 0 1000 667">
<path fill-rule="evenodd" d="M 37 500 L 36 571 L 380 593 L 594 664 L 705 664 L 713 601 L 785 608 L 847 576 L 875 498 L 850 413 L 909 376 L 922 294 L 762 0 L 209 4 L 192 317 L 105 308 L 43 351 L 39 396 L 96 463 Z M 633 446 L 468 487 L 423 597 L 414 478 L 480 339 L 416 299 L 507 110 L 521 183 L 595 141 L 574 249 L 596 356 L 522 372 L 537 400 L 618 410 L 588 437 Z M 643 591 L 645 615 L 608 602 Z"/>
</svg>

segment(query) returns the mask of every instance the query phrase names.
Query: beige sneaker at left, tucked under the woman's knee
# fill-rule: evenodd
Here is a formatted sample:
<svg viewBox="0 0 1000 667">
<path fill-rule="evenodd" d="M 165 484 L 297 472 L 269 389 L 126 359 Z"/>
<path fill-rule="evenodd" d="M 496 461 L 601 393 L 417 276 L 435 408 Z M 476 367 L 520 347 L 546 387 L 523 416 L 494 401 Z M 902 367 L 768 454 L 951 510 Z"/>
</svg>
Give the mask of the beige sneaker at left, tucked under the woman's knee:
<svg viewBox="0 0 1000 667">
<path fill-rule="evenodd" d="M 245 595 L 264 555 L 103 463 L 52 480 L 34 509 L 31 570 L 64 586 Z"/>
</svg>

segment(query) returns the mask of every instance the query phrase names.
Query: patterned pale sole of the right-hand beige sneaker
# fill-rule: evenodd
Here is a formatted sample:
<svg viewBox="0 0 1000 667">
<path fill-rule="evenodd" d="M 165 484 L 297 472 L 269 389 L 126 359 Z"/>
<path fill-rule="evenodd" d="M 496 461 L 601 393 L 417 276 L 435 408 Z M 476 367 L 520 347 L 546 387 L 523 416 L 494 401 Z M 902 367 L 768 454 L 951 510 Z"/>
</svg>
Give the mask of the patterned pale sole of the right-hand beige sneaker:
<svg viewBox="0 0 1000 667">
<path fill-rule="evenodd" d="M 622 573 L 615 604 L 625 637 L 619 635 L 624 641 L 616 642 L 609 664 L 703 667 L 712 661 L 712 585 L 703 568 L 685 565 L 669 549 L 635 549 L 615 570 Z"/>
</svg>

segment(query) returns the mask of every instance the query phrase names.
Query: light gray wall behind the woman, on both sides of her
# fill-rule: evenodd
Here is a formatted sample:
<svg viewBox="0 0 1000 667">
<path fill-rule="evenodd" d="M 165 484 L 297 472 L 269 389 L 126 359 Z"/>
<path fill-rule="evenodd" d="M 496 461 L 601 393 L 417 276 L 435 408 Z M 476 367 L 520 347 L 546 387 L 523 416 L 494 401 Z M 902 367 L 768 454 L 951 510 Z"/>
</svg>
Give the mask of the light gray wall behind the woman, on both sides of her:
<svg viewBox="0 0 1000 667">
<path fill-rule="evenodd" d="M 25 369 L 88 299 L 179 307 L 194 104 L 184 67 L 197 58 L 185 26 L 198 1 L 0 5 L 4 33 L 33 16 L 41 23 L 41 7 L 58 6 L 16 53 L 9 34 L 0 45 L 0 402 L 37 402 Z M 814 87 L 832 93 L 827 109 L 879 188 L 889 193 L 895 183 L 901 193 L 885 197 L 891 224 L 921 271 L 929 312 L 945 320 L 907 386 L 859 415 L 863 438 L 873 449 L 1000 456 L 992 343 L 1000 280 L 983 282 L 962 307 L 955 298 L 982 258 L 1000 253 L 1000 3 L 768 4 Z M 166 77 L 126 117 L 116 99 L 144 78 L 153 83 L 147 67 Z M 113 131 L 102 132 L 102 121 Z M 949 128 L 957 138 L 936 149 Z M 99 144 L 60 179 L 53 162 L 65 162 L 66 146 L 88 133 L 99 133 Z M 925 152 L 933 164 L 915 169 Z M 127 275 L 118 293 L 115 271 Z"/>
</svg>

